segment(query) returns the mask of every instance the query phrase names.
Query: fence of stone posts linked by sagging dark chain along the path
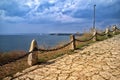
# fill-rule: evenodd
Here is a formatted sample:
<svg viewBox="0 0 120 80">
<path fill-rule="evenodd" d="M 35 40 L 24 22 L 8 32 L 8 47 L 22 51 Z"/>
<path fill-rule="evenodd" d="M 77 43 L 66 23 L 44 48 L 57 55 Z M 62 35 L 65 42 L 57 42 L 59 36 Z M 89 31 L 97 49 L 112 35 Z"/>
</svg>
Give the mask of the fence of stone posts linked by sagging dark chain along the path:
<svg viewBox="0 0 120 80">
<path fill-rule="evenodd" d="M 98 36 L 105 36 L 105 35 L 108 35 L 109 32 L 116 32 L 116 30 L 120 31 L 120 29 L 117 28 L 117 27 L 114 27 L 114 29 L 113 29 L 112 31 L 110 31 L 110 30 L 108 30 L 108 29 L 106 29 L 106 30 L 107 30 L 107 31 L 105 31 L 105 32 L 103 32 L 103 33 L 94 32 L 94 34 L 93 34 L 90 38 L 88 38 L 88 39 L 86 39 L 86 40 L 75 39 L 75 35 L 73 35 L 72 38 L 70 39 L 70 42 L 64 44 L 63 46 L 60 46 L 60 47 L 57 47 L 57 48 L 53 48 L 53 49 L 42 49 L 42 48 L 38 48 L 37 41 L 36 41 L 36 40 L 33 40 L 33 41 L 31 42 L 30 50 L 29 50 L 28 53 L 26 53 L 25 55 L 23 55 L 23 56 L 21 56 L 21 57 L 18 57 L 18 58 L 16 58 L 16 59 L 9 60 L 9 61 L 6 62 L 6 63 L 0 63 L 0 66 L 5 65 L 5 64 L 8 64 L 8 63 L 10 63 L 10 62 L 15 62 L 16 60 L 22 59 L 22 58 L 24 58 L 24 57 L 26 57 L 26 56 L 28 56 L 28 64 L 29 64 L 29 65 L 33 65 L 33 64 L 35 64 L 35 63 L 37 62 L 37 57 L 36 57 L 37 55 L 35 55 L 34 51 L 40 51 L 40 52 L 57 51 L 57 50 L 60 50 L 60 49 L 65 48 L 65 47 L 67 47 L 67 46 L 69 46 L 69 45 L 70 45 L 70 47 L 72 46 L 72 48 L 70 48 L 70 49 L 73 49 L 73 50 L 74 50 L 74 49 L 75 49 L 74 46 L 76 46 L 76 45 L 75 45 L 75 41 L 78 41 L 78 42 L 87 42 L 87 41 L 90 41 L 90 40 L 92 40 L 92 39 L 96 39 L 97 35 L 98 35 Z M 78 36 L 78 35 L 77 35 L 77 36 Z M 80 36 L 81 36 L 81 35 L 80 35 Z M 95 40 L 95 41 L 97 41 L 97 40 Z M 34 60 L 33 60 L 33 59 L 34 59 Z M 33 63 L 33 61 L 34 61 L 34 63 Z M 36 62 L 35 62 L 35 61 L 36 61 Z"/>
</svg>

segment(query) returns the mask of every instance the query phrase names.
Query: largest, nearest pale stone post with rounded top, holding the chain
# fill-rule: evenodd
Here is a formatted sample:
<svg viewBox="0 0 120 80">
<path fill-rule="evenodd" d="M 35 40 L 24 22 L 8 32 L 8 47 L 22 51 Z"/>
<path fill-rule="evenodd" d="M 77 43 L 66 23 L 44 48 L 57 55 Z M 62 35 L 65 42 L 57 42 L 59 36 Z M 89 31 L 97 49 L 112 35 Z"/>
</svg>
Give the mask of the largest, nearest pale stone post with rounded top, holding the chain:
<svg viewBox="0 0 120 80">
<path fill-rule="evenodd" d="M 30 50 L 29 50 L 30 54 L 28 55 L 28 65 L 30 66 L 36 64 L 38 61 L 37 53 L 33 52 L 33 51 L 36 51 L 37 49 L 38 49 L 37 41 L 32 40 L 30 45 Z"/>
</svg>

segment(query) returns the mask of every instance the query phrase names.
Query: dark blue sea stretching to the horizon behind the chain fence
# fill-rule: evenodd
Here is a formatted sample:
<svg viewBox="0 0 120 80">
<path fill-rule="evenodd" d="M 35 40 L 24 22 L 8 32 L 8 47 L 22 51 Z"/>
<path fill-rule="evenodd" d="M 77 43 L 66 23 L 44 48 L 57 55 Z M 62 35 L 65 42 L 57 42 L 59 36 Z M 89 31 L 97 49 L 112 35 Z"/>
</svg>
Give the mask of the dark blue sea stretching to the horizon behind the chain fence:
<svg viewBox="0 0 120 80">
<path fill-rule="evenodd" d="M 68 35 L 25 34 L 0 35 L 0 52 L 14 50 L 29 51 L 31 41 L 35 39 L 39 46 L 52 48 L 60 43 L 69 42 Z"/>
</svg>

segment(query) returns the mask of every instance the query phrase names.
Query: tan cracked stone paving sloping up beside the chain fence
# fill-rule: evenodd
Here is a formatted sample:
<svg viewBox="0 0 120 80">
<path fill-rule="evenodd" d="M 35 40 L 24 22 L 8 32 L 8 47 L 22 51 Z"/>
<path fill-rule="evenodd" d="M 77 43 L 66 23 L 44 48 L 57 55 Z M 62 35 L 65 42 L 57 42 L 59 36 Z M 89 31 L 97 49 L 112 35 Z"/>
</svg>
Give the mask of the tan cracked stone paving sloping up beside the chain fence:
<svg viewBox="0 0 120 80">
<path fill-rule="evenodd" d="M 18 72 L 13 80 L 120 80 L 120 35 L 75 52 Z"/>
</svg>

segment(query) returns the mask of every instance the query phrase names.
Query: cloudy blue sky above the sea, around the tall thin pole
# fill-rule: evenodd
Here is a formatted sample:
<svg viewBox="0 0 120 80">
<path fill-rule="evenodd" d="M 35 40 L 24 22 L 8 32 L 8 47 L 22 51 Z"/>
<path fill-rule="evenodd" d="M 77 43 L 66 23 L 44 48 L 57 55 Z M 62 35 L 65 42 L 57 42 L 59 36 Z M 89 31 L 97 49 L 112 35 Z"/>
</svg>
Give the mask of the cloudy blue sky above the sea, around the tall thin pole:
<svg viewBox="0 0 120 80">
<path fill-rule="evenodd" d="M 0 0 L 0 34 L 73 33 L 120 23 L 120 0 Z"/>
</svg>

